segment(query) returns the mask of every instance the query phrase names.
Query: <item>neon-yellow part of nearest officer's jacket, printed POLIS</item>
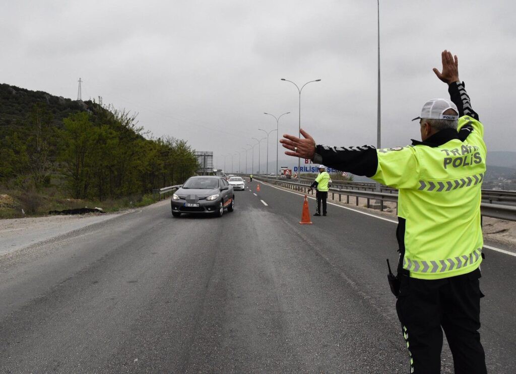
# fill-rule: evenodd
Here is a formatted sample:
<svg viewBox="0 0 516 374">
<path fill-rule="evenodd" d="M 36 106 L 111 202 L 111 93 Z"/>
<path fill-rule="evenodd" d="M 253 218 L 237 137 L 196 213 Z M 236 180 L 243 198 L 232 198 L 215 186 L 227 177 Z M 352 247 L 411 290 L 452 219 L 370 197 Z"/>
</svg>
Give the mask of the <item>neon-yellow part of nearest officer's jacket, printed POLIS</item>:
<svg viewBox="0 0 516 374">
<path fill-rule="evenodd" d="M 374 180 L 399 189 L 398 216 L 405 218 L 402 267 L 410 277 L 440 279 L 470 273 L 481 263 L 482 179 L 486 173 L 483 125 L 459 118 L 462 142 L 378 149 Z"/>
</svg>

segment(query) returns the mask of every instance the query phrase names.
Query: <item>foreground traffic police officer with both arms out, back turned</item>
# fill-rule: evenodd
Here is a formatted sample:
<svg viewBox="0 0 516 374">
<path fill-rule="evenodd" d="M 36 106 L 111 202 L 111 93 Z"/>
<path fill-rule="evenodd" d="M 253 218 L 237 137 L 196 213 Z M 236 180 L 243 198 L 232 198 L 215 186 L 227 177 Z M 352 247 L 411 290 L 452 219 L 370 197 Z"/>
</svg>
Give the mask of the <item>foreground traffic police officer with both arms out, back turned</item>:
<svg viewBox="0 0 516 374">
<path fill-rule="evenodd" d="M 441 54 L 451 101 L 429 100 L 419 120 L 421 141 L 375 149 L 315 145 L 284 135 L 289 156 L 310 158 L 368 176 L 399 190 L 396 310 L 410 356 L 410 372 L 439 373 L 442 330 L 456 374 L 485 374 L 480 344 L 480 198 L 486 172 L 483 125 L 459 80 L 457 56 Z"/>
</svg>

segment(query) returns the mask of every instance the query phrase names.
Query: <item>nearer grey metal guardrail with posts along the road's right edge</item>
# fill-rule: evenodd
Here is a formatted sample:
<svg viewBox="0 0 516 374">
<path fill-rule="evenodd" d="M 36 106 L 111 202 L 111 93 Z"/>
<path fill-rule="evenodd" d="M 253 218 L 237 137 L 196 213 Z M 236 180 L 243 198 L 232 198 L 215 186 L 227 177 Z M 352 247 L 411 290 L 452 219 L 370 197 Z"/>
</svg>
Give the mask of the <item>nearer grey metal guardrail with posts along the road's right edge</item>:
<svg viewBox="0 0 516 374">
<path fill-rule="evenodd" d="M 283 186 L 285 188 L 289 188 L 292 190 L 300 191 L 303 193 L 307 193 L 309 184 L 307 183 L 299 183 L 287 181 L 285 179 L 276 179 L 276 178 L 266 178 L 266 177 L 255 177 L 257 180 L 266 181 L 271 184 L 276 184 L 279 186 Z M 496 190 L 494 190 L 496 191 Z M 496 191 L 498 192 L 498 191 Z M 506 191 L 511 192 L 511 191 Z M 349 197 L 352 196 L 356 199 L 356 205 L 359 205 L 359 198 L 367 199 L 367 208 L 370 207 L 370 200 L 378 200 L 380 202 L 380 210 L 384 210 L 384 201 L 391 201 L 396 203 L 396 208 L 398 204 L 398 194 L 391 193 L 382 193 L 382 192 L 369 192 L 369 191 L 358 191 L 358 190 L 346 190 L 346 189 L 335 189 L 330 188 L 328 193 L 332 194 L 332 199 L 335 199 L 335 195 L 338 195 L 338 201 L 342 201 L 342 195 L 346 196 L 346 203 L 349 204 Z M 483 191 L 482 191 L 483 193 Z M 313 191 L 312 191 L 313 194 Z M 506 219 L 511 221 L 516 221 L 516 207 L 501 205 L 501 204 L 492 204 L 482 202 L 480 203 L 480 214 L 485 217 L 492 217 L 498 219 Z"/>
</svg>

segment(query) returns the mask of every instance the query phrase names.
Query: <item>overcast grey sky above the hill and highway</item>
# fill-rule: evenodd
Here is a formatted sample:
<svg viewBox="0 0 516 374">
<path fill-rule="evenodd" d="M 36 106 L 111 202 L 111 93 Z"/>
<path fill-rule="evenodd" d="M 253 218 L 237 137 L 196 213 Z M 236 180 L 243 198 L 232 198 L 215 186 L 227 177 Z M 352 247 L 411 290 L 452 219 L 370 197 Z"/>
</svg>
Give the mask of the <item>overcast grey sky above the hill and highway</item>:
<svg viewBox="0 0 516 374">
<path fill-rule="evenodd" d="M 446 48 L 459 57 L 488 149 L 516 150 L 515 9 L 510 1 L 380 1 L 382 147 L 418 139 L 411 118 L 427 99 L 448 97 L 432 72 Z M 276 128 L 264 112 L 291 112 L 280 135 L 297 134 L 299 94 L 280 78 L 321 79 L 301 94 L 301 127 L 317 143 L 376 145 L 376 1 L 19 0 L 0 3 L 0 21 L 0 82 L 77 98 L 80 77 L 83 99 L 138 112 L 155 137 L 213 150 L 219 167 L 220 155 L 264 137 L 259 128 Z M 265 155 L 262 142 L 263 169 Z M 297 164 L 280 147 L 282 159 Z"/>
</svg>

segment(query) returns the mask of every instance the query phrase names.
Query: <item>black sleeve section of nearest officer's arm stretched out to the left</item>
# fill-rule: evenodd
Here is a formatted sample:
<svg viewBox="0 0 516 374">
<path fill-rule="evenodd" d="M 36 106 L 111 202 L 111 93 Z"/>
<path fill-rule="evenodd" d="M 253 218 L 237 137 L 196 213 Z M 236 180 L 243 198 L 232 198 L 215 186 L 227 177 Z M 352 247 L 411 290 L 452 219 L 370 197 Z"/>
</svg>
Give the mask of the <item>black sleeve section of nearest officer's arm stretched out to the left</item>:
<svg viewBox="0 0 516 374">
<path fill-rule="evenodd" d="M 370 145 L 362 147 L 330 147 L 317 145 L 313 161 L 342 172 L 372 177 L 378 168 L 376 148 Z"/>
</svg>

